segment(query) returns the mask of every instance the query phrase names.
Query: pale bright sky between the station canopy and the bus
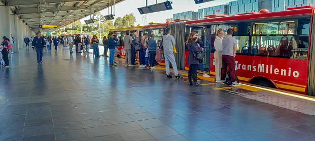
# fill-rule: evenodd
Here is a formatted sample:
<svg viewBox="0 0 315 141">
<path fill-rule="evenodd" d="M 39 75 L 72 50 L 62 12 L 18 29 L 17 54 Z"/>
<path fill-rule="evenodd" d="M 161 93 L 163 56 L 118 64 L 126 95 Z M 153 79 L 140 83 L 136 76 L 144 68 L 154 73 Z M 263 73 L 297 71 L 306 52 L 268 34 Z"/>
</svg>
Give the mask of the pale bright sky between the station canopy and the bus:
<svg viewBox="0 0 315 141">
<path fill-rule="evenodd" d="M 196 5 L 194 0 L 170 0 L 170 2 L 173 2 L 172 10 L 167 11 L 161 11 L 161 12 L 155 12 L 147 14 L 147 22 L 144 24 L 143 22 L 143 16 L 138 11 L 137 8 L 145 7 L 146 6 L 146 0 L 125 0 L 124 2 L 121 2 L 117 5 L 115 5 L 115 16 L 114 18 L 123 17 L 126 14 L 133 13 L 136 22 L 134 25 L 148 25 L 149 22 L 154 23 L 165 23 L 165 19 L 172 18 L 173 14 L 186 12 L 186 11 L 195 11 L 197 12 L 198 9 L 202 8 L 208 8 L 223 4 L 228 4 L 229 2 L 236 1 L 236 0 L 215 0 L 211 2 L 206 2 L 203 4 Z M 158 0 L 158 3 L 166 2 L 166 0 Z M 154 5 L 155 0 L 148 0 L 148 6 Z M 101 15 L 109 15 L 108 9 L 104 9 L 100 11 Z M 113 12 L 114 14 L 114 12 Z M 81 23 L 85 24 L 84 20 L 87 20 L 87 17 L 81 19 Z"/>
</svg>

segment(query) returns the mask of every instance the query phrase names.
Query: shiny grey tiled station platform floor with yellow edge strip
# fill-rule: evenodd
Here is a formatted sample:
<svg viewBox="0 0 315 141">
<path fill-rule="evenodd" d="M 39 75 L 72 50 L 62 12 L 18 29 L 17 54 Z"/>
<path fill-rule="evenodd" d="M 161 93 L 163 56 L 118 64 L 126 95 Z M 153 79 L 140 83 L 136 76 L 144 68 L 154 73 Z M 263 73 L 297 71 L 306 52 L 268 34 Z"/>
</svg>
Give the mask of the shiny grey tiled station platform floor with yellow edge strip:
<svg viewBox="0 0 315 141">
<path fill-rule="evenodd" d="M 90 50 L 92 51 L 92 50 Z M 11 55 L 11 54 L 10 54 Z M 0 68 L 0 140 L 315 140 L 315 99 L 109 59 L 20 49 Z M 174 74 L 172 74 L 174 76 Z"/>
</svg>

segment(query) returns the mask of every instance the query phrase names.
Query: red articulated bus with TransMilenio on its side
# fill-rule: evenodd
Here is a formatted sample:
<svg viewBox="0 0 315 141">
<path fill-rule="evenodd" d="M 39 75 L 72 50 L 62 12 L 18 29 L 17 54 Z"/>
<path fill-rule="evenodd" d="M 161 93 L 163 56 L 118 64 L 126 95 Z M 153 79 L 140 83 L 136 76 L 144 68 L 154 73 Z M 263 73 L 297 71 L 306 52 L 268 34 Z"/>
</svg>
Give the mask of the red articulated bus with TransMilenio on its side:
<svg viewBox="0 0 315 141">
<path fill-rule="evenodd" d="M 117 57 L 124 57 L 121 38 L 126 30 L 136 36 L 155 34 L 161 40 L 166 28 L 176 39 L 178 68 L 188 69 L 188 51 L 184 42 L 191 31 L 198 31 L 204 42 L 203 65 L 215 75 L 213 53 L 216 32 L 234 30 L 237 40 L 235 63 L 240 81 L 315 96 L 315 51 L 312 30 L 314 6 L 288 8 L 281 12 L 244 13 L 233 16 L 209 15 L 206 19 L 177 21 L 166 24 L 111 29 L 119 32 Z M 187 47 L 186 47 L 187 48 Z M 163 51 L 157 47 L 156 63 L 165 65 Z"/>
</svg>

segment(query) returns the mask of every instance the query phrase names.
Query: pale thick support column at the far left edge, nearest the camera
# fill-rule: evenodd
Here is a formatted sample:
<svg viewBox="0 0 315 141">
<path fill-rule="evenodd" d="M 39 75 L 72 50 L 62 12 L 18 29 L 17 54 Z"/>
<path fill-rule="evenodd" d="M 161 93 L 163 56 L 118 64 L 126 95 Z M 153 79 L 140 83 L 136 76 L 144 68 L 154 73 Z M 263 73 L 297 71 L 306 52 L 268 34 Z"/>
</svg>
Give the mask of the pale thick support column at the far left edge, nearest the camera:
<svg viewBox="0 0 315 141">
<path fill-rule="evenodd" d="M 0 19 L 8 19 L 10 16 L 9 7 L 0 6 Z M 0 35 L 1 38 L 3 36 L 10 37 L 10 20 L 0 20 Z"/>
</svg>

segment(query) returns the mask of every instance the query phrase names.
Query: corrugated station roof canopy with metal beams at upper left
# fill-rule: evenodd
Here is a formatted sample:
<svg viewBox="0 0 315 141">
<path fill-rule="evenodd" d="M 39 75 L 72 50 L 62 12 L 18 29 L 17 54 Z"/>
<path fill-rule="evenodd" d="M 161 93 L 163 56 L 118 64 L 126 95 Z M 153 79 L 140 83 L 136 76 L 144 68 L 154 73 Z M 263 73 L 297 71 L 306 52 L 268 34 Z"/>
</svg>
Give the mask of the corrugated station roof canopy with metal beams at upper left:
<svg viewBox="0 0 315 141">
<path fill-rule="evenodd" d="M 6 0 L 0 5 L 9 6 L 12 14 L 18 15 L 34 32 L 39 25 L 57 25 L 61 28 L 125 0 Z M 2 3 L 2 4 L 1 4 Z M 52 29 L 42 29 L 49 32 Z"/>
</svg>

